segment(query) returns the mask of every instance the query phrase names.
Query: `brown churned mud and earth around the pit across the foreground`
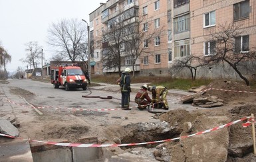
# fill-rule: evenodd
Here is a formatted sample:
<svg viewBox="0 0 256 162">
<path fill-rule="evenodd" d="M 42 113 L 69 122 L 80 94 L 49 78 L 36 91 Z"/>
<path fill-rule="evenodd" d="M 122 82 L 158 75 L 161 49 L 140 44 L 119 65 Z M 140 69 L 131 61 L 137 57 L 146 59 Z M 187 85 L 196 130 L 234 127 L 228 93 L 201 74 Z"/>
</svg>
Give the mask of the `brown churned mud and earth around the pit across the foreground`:
<svg viewBox="0 0 256 162">
<path fill-rule="evenodd" d="M 210 85 L 205 85 L 204 89 L 209 88 L 243 92 L 206 91 L 203 96 L 216 95 L 219 99 L 223 99 L 224 105 L 215 108 L 199 108 L 195 106 L 193 110 L 186 110 L 186 108 L 172 110 L 170 108 L 170 111 L 166 113 L 152 114 L 152 118 L 156 119 L 155 122 L 145 121 L 120 126 L 114 122 L 115 118 L 111 118 L 108 119 L 110 122 L 112 120 L 111 125 L 102 126 L 99 124 L 94 126 L 94 130 L 99 131 L 98 134 L 96 133 L 99 137 L 98 140 L 100 143 L 119 144 L 179 138 L 251 116 L 252 113 L 256 114 L 256 93 L 244 92 L 251 91 L 250 87 L 233 81 L 213 81 Z M 110 89 L 107 91 L 110 91 Z M 117 91 L 117 89 L 112 89 L 112 91 Z M 11 88 L 11 93 L 25 97 L 25 99 L 31 99 L 35 95 L 15 87 Z M 174 96 L 172 95 L 172 97 Z M 145 111 L 145 113 L 149 112 Z M 69 142 L 79 142 L 79 137 L 92 136 L 92 128 L 90 126 L 64 120 L 61 116 L 54 117 L 47 118 L 47 120 L 52 120 L 53 122 L 45 125 L 43 129 L 31 124 L 31 126 L 35 126 L 33 128 L 35 138 L 45 140 L 66 139 Z M 22 128 L 20 130 L 21 132 L 25 131 Z M 104 158 L 108 158 L 109 161 L 118 161 L 116 158 L 124 158 L 127 161 L 136 161 L 135 159 L 137 161 L 187 162 L 256 161 L 253 155 L 251 126 L 243 128 L 242 122 L 207 134 L 182 138 L 182 140 L 140 145 L 139 147 L 106 147 L 104 150 L 108 154 Z"/>
</svg>

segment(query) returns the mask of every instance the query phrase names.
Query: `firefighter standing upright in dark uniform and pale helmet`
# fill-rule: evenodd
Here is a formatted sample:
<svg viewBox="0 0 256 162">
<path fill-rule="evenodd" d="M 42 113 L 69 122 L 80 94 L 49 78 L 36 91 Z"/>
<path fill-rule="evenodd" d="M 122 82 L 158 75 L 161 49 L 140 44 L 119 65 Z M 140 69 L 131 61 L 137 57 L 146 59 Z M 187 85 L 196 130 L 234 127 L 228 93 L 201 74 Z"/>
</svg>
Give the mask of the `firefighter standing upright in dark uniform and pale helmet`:
<svg viewBox="0 0 256 162">
<path fill-rule="evenodd" d="M 122 72 L 121 77 L 118 79 L 118 85 L 120 85 L 121 93 L 122 93 L 122 109 L 123 110 L 130 110 L 129 104 L 130 104 L 130 92 L 131 92 L 131 87 L 130 87 L 130 68 L 124 69 Z"/>
</svg>

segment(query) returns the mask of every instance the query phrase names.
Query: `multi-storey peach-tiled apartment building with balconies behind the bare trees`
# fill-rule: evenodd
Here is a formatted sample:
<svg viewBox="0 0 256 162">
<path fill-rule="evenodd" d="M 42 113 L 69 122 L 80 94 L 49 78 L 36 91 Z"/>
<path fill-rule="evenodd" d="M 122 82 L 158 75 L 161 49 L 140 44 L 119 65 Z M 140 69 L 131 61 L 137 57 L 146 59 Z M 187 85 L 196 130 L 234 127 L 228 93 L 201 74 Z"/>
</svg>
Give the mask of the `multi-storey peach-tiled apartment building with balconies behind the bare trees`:
<svg viewBox="0 0 256 162">
<path fill-rule="evenodd" d="M 127 11 L 133 13 L 130 20 L 140 21 L 140 30 L 154 34 L 151 41 L 144 41 L 144 48 L 135 71 L 140 75 L 166 76 L 172 74 L 174 60 L 190 55 L 209 56 L 214 53 L 214 42 L 207 42 L 210 32 L 217 32 L 220 24 L 236 24 L 245 30 L 234 38 L 241 52 L 256 50 L 256 1 L 254 0 L 108 0 L 90 13 L 90 39 L 92 48 L 92 73 L 114 72 L 102 67 L 104 55 L 103 37 L 110 22 Z M 134 21 L 130 21 L 134 22 Z M 156 30 L 158 29 L 158 30 Z M 238 42 L 238 43 L 237 43 Z M 122 69 L 131 67 L 129 52 L 122 54 Z M 238 47 L 237 47 L 238 46 Z M 237 77 L 223 67 L 202 68 L 203 77 Z M 230 75 L 233 76 L 230 76 Z M 190 77 L 190 76 L 189 76 Z"/>
</svg>

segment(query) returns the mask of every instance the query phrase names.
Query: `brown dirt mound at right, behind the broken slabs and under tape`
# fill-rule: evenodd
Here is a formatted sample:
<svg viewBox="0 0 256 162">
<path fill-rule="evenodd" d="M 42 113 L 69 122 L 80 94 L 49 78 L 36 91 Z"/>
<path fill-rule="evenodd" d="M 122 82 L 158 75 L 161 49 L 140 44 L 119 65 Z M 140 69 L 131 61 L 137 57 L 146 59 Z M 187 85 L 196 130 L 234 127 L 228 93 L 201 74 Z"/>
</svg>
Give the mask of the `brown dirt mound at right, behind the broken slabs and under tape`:
<svg viewBox="0 0 256 162">
<path fill-rule="evenodd" d="M 219 99 L 222 99 L 225 103 L 232 101 L 243 101 L 248 97 L 254 97 L 255 95 L 250 92 L 251 88 L 246 86 L 244 83 L 237 81 L 227 81 L 227 80 L 215 80 L 212 81 L 207 87 L 201 91 L 206 91 L 203 93 L 204 97 L 208 96 L 217 96 Z M 241 92 L 237 92 L 241 91 Z"/>
</svg>

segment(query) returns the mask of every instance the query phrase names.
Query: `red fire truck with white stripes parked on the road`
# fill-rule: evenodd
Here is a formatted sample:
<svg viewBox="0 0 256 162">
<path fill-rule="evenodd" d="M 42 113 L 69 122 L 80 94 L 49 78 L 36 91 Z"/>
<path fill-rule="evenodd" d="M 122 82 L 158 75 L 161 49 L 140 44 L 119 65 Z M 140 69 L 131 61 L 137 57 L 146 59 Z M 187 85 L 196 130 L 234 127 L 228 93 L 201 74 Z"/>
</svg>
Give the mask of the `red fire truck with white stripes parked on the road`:
<svg viewBox="0 0 256 162">
<path fill-rule="evenodd" d="M 66 91 L 69 91 L 71 88 L 86 90 L 87 87 L 86 77 L 82 69 L 75 64 L 51 67 L 51 83 L 55 89 L 63 86 Z"/>
</svg>

